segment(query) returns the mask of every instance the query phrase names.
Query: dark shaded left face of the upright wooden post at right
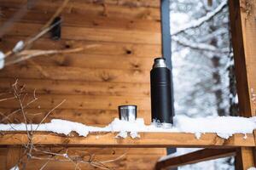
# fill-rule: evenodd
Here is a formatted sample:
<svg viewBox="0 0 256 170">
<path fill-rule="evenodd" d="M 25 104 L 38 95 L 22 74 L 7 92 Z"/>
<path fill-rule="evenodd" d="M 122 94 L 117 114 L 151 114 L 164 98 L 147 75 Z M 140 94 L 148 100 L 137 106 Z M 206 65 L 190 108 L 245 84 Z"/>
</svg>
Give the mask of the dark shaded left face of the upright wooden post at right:
<svg viewBox="0 0 256 170">
<path fill-rule="evenodd" d="M 239 100 L 239 111 L 241 116 L 251 116 L 249 84 L 247 80 L 247 62 L 245 56 L 244 39 L 242 37 L 242 26 L 244 18 L 241 18 L 239 0 L 229 1 L 230 25 L 232 43 L 234 48 L 234 59 L 236 66 L 236 85 Z M 245 31 L 244 31 L 245 32 Z"/>
</svg>

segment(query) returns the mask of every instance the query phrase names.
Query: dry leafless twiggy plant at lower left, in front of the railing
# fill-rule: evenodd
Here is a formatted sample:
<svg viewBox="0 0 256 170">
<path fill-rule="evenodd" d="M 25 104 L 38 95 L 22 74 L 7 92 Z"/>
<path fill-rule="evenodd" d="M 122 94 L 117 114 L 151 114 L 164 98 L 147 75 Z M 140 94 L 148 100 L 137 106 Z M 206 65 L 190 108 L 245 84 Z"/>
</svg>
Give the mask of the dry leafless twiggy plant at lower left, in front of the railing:
<svg viewBox="0 0 256 170">
<path fill-rule="evenodd" d="M 20 112 L 26 124 L 26 133 L 27 133 L 27 139 L 28 139 L 28 142 L 22 145 L 22 153 L 20 155 L 19 161 L 17 161 L 15 165 L 15 166 L 18 166 L 19 168 L 21 167 L 20 169 L 26 169 L 26 167 L 29 165 L 29 161 L 32 159 L 35 159 L 35 160 L 45 161 L 44 165 L 40 167 L 40 170 L 43 170 L 45 167 L 47 167 L 47 165 L 49 164 L 49 161 L 71 162 L 73 163 L 74 169 L 80 169 L 80 166 L 83 166 L 86 164 L 92 167 L 109 170 L 113 168 L 105 165 L 106 163 L 118 161 L 126 155 L 127 151 L 123 155 L 118 156 L 115 159 L 107 160 L 107 161 L 98 161 L 96 160 L 94 153 L 89 153 L 87 151 L 76 150 L 74 153 L 73 152 L 69 153 L 68 149 L 64 147 L 61 148 L 61 150 L 55 150 L 55 151 L 53 151 L 51 147 L 49 148 L 49 150 L 47 150 L 46 148 L 38 149 L 32 140 L 34 132 L 38 130 L 38 127 L 41 126 L 41 124 L 45 121 L 47 116 L 49 116 L 49 114 L 52 111 L 54 111 L 56 108 L 62 105 L 66 101 L 66 99 L 61 101 L 59 105 L 55 105 L 55 107 L 44 116 L 41 122 L 38 123 L 38 126 L 35 129 L 32 129 L 32 124 L 29 124 L 26 118 L 26 115 L 27 115 L 26 107 L 30 105 L 32 102 L 34 102 L 35 99 L 38 99 L 36 97 L 36 91 L 34 90 L 33 99 L 30 102 L 28 102 L 26 105 L 24 105 L 24 99 L 27 94 L 25 86 L 20 87 L 18 85 L 18 81 L 16 81 L 12 85 L 12 92 L 13 92 L 13 95 L 15 96 L 15 99 L 17 99 L 19 102 L 19 109 L 17 109 L 16 111 L 13 111 L 11 114 Z M 2 114 L 2 116 L 4 115 Z M 9 117 L 6 116 L 5 119 L 9 120 Z M 9 124 L 9 125 L 11 126 L 12 124 Z M 31 127 L 29 127 L 29 125 L 31 125 Z M 55 146 L 53 145 L 52 147 L 55 147 Z"/>
</svg>

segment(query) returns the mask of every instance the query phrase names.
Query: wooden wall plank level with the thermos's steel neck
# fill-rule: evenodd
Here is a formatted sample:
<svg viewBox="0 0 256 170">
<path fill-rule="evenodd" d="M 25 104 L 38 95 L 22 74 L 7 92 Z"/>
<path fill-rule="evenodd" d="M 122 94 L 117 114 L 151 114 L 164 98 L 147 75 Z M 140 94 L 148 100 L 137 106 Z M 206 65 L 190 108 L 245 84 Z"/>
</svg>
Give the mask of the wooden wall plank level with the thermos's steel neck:
<svg viewBox="0 0 256 170">
<path fill-rule="evenodd" d="M 6 59 L 7 61 L 9 59 Z M 106 56 L 93 54 L 56 54 L 53 56 L 38 56 L 34 59 L 38 65 L 70 66 L 92 69 L 147 70 L 152 68 L 153 59 L 127 58 L 125 56 Z M 28 63 L 29 65 L 29 63 Z"/>
</svg>

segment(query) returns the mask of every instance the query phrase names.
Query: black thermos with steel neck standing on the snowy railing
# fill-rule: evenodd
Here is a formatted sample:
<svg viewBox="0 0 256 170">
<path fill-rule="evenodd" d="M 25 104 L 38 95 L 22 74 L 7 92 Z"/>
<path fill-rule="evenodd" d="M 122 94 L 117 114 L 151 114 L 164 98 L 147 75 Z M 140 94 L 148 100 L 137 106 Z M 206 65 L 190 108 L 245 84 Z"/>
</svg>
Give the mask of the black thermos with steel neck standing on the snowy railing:
<svg viewBox="0 0 256 170">
<path fill-rule="evenodd" d="M 165 59 L 154 59 L 150 71 L 152 122 L 173 122 L 171 83 L 171 71 L 167 68 Z"/>
</svg>

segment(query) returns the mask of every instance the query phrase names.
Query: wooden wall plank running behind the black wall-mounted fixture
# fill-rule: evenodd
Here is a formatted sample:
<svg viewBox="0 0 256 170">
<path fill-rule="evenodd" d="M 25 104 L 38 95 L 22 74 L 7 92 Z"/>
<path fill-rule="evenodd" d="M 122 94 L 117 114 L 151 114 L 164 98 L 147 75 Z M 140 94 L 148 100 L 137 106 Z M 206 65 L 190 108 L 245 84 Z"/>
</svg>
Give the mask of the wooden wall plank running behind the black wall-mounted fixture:
<svg viewBox="0 0 256 170">
<path fill-rule="evenodd" d="M 0 21 L 0 25 L 4 22 Z M 5 35 L 32 36 L 43 27 L 40 24 L 15 22 Z M 49 37 L 46 35 L 44 37 Z M 131 42 L 160 44 L 160 32 L 122 31 L 117 29 L 61 26 L 61 38 L 67 40 L 89 40 L 99 42 Z"/>
</svg>

